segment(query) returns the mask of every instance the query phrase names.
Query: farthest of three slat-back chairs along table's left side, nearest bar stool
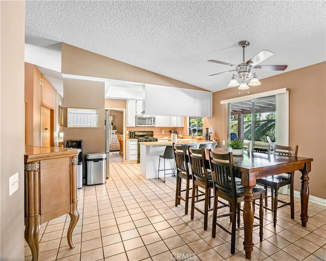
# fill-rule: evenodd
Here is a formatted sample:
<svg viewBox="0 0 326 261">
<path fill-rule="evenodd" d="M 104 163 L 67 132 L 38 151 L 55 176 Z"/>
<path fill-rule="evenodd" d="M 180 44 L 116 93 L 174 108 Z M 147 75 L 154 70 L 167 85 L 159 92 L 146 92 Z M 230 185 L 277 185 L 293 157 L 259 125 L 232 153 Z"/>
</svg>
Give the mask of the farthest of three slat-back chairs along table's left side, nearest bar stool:
<svg viewBox="0 0 326 261">
<path fill-rule="evenodd" d="M 197 145 L 194 144 L 197 148 Z M 189 206 L 189 191 L 192 189 L 189 187 L 190 181 L 193 176 L 189 169 L 189 158 L 187 156 L 187 145 L 186 144 L 175 144 L 173 143 L 173 152 L 175 158 L 175 164 L 177 169 L 176 174 L 176 190 L 175 190 L 175 206 L 180 205 L 181 200 L 185 201 L 185 209 L 184 214 L 188 214 L 188 206 Z M 182 189 L 182 180 L 185 180 L 186 187 Z M 182 192 L 185 192 L 184 197 L 182 197 Z"/>
</svg>

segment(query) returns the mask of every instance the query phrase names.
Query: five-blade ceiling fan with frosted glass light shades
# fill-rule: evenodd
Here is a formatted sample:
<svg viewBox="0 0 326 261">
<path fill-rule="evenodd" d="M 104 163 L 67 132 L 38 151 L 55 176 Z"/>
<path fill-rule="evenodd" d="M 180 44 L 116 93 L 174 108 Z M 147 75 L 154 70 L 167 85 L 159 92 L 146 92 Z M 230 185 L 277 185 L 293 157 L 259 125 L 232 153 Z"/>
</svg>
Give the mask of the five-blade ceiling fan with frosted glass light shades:
<svg viewBox="0 0 326 261">
<path fill-rule="evenodd" d="M 262 50 L 258 52 L 254 57 L 252 57 L 247 62 L 244 62 L 244 49 L 250 45 L 248 41 L 240 41 L 238 45 L 242 47 L 242 63 L 239 65 L 229 64 L 221 61 L 216 60 L 208 60 L 208 62 L 216 63 L 216 64 L 223 64 L 227 66 L 234 67 L 233 70 L 229 70 L 226 72 L 214 73 L 209 76 L 214 76 L 222 73 L 234 72 L 236 71 L 237 74 L 233 74 L 230 83 L 228 84 L 229 87 L 239 86 L 239 90 L 246 90 L 249 89 L 249 86 L 256 86 L 260 85 L 260 81 L 257 78 L 256 73 L 252 73 L 253 69 L 259 70 L 272 70 L 272 71 L 284 71 L 287 68 L 287 65 L 258 65 L 262 61 L 266 60 L 268 57 L 273 55 L 274 53 L 267 50 Z M 241 84 L 237 81 L 240 79 Z M 251 79 L 251 81 L 247 84 L 246 81 Z"/>
</svg>

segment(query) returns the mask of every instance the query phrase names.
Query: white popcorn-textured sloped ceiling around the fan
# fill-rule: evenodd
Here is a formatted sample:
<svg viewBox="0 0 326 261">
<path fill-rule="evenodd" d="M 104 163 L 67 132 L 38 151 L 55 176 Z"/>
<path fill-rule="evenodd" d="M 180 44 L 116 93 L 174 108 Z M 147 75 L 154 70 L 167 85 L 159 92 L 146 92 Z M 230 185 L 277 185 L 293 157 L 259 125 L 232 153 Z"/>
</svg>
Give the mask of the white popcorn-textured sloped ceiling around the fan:
<svg viewBox="0 0 326 261">
<path fill-rule="evenodd" d="M 242 62 L 265 49 L 261 65 L 291 71 L 326 60 L 324 1 L 28 1 L 25 42 L 64 42 L 200 88 L 228 88 Z M 257 71 L 259 79 L 283 72 Z"/>
</svg>

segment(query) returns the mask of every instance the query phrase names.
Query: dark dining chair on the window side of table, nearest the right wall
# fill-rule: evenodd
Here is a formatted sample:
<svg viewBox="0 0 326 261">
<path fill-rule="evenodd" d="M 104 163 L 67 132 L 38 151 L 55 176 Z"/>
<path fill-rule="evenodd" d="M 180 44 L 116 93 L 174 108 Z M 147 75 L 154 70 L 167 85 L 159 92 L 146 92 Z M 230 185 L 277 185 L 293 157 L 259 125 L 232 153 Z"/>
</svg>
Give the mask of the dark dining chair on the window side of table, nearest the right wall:
<svg viewBox="0 0 326 261">
<path fill-rule="evenodd" d="M 271 147 L 271 144 L 269 148 Z M 278 156 L 286 156 L 286 157 L 296 157 L 297 156 L 298 146 L 280 146 L 278 144 L 273 144 L 273 157 L 274 159 Z M 269 154 L 269 152 L 268 152 Z M 273 211 L 273 222 L 274 227 L 276 227 L 277 222 L 277 210 L 286 206 L 290 206 L 291 211 L 291 219 L 294 218 L 294 196 L 293 196 L 293 179 L 294 179 L 294 171 L 282 173 L 279 175 L 272 175 L 258 179 L 256 182 L 258 185 L 264 186 L 266 189 L 265 194 L 265 206 L 264 208 Z M 284 200 L 278 199 L 278 190 L 280 187 L 290 185 L 290 202 L 286 202 Z M 267 195 L 267 188 L 270 188 L 270 195 Z M 271 208 L 268 207 L 267 197 L 271 197 Z M 278 206 L 278 202 L 281 202 L 282 205 Z"/>
</svg>

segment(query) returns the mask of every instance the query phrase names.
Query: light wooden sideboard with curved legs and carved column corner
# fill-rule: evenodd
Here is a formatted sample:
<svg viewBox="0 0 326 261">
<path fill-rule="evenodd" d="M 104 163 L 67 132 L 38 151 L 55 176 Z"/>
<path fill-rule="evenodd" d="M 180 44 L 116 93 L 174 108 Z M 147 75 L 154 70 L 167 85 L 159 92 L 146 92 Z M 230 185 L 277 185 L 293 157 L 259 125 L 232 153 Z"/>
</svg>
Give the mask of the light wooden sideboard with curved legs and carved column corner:
<svg viewBox="0 0 326 261">
<path fill-rule="evenodd" d="M 32 260 L 39 258 L 41 224 L 69 213 L 67 240 L 74 248 L 72 231 L 79 219 L 77 209 L 77 162 L 79 149 L 25 146 L 25 240 Z"/>
</svg>

